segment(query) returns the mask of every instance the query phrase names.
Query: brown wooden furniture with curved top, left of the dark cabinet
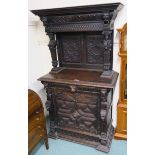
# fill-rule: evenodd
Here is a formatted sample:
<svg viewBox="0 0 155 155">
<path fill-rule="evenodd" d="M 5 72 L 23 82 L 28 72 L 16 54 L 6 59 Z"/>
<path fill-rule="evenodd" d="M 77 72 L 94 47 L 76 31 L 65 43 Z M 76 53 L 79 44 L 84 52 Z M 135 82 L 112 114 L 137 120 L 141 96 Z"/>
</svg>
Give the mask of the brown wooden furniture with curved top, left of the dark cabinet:
<svg viewBox="0 0 155 155">
<path fill-rule="evenodd" d="M 46 132 L 44 108 L 40 97 L 32 90 L 28 90 L 28 150 L 29 154 L 33 148 L 44 139 L 48 149 L 48 138 Z"/>
</svg>

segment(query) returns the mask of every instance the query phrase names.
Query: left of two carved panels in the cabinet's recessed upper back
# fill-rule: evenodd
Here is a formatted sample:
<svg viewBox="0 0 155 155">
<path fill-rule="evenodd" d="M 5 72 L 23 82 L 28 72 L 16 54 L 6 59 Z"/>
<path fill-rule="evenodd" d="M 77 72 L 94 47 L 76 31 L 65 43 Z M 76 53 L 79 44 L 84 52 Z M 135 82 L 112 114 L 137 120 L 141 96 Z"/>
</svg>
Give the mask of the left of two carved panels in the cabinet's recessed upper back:
<svg viewBox="0 0 155 155">
<path fill-rule="evenodd" d="M 62 46 L 64 62 L 80 63 L 81 42 L 79 35 L 63 35 Z"/>
</svg>

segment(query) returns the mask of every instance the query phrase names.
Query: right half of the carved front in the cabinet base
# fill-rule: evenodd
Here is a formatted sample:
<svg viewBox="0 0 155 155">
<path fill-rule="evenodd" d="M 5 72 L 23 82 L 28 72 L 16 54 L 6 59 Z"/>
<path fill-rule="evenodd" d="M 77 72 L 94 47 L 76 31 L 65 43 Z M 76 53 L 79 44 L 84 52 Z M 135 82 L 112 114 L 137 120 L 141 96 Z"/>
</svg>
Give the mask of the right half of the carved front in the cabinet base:
<svg viewBox="0 0 155 155">
<path fill-rule="evenodd" d="M 87 92 L 76 93 L 77 127 L 91 133 L 97 133 L 97 99 L 96 94 Z"/>
</svg>

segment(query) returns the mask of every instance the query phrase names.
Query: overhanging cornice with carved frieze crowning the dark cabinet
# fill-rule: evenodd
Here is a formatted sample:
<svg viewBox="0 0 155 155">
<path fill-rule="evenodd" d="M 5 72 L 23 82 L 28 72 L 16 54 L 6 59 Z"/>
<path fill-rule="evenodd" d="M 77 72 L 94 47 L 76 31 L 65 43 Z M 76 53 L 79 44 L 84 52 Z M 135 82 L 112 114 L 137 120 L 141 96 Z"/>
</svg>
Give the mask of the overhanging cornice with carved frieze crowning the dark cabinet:
<svg viewBox="0 0 155 155">
<path fill-rule="evenodd" d="M 40 17 L 48 32 L 103 31 L 113 28 L 121 7 L 120 3 L 111 3 L 32 12 Z"/>
</svg>

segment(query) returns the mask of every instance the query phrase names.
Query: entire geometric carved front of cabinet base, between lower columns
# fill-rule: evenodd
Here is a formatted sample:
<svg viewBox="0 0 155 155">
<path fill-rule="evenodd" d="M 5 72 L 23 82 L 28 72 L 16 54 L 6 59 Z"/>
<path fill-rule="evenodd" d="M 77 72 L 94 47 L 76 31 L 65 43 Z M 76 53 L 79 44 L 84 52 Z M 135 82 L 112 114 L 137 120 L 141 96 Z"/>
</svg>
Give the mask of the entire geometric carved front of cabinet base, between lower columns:
<svg viewBox="0 0 155 155">
<path fill-rule="evenodd" d="M 97 133 L 97 93 L 55 89 L 58 126 Z"/>
</svg>

